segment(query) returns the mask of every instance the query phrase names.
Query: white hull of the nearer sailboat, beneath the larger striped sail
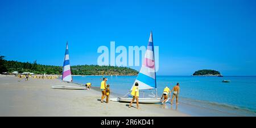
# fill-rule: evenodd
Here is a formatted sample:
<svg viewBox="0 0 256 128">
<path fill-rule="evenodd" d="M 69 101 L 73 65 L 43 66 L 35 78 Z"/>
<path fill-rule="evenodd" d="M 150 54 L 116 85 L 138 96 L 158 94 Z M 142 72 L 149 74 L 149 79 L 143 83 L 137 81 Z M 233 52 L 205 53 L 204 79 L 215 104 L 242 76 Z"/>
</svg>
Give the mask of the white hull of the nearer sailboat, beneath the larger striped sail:
<svg viewBox="0 0 256 128">
<path fill-rule="evenodd" d="M 119 102 L 131 102 L 131 100 L 133 100 L 133 98 L 129 98 L 129 97 L 118 98 Z M 136 102 L 136 100 L 134 100 L 134 102 Z M 155 104 L 159 102 L 161 102 L 160 98 L 139 98 L 139 103 Z"/>
</svg>

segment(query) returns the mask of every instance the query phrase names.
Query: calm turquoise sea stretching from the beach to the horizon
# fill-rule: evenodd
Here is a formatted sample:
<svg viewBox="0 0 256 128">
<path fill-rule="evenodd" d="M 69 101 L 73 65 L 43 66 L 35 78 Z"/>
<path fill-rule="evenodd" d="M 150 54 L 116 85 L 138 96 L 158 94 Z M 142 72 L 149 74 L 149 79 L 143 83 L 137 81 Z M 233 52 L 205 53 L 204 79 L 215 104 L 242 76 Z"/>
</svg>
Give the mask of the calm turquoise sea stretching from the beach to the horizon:
<svg viewBox="0 0 256 128">
<path fill-rule="evenodd" d="M 125 95 L 136 79 L 136 76 L 107 77 L 112 93 L 118 96 Z M 101 79 L 102 76 L 73 76 L 73 82 L 91 82 L 92 86 L 100 86 Z M 157 76 L 158 96 L 166 86 L 173 88 L 177 82 L 180 83 L 181 104 L 237 116 L 256 116 L 256 76 Z"/>
</svg>

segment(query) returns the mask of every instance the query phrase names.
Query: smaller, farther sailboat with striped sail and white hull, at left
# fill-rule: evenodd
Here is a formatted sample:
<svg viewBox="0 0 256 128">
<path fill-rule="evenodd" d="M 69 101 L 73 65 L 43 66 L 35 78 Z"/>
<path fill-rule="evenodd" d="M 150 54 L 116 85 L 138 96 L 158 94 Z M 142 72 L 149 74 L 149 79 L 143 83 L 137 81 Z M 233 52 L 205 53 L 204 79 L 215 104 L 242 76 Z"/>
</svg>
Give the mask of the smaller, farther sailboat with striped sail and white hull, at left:
<svg viewBox="0 0 256 128">
<path fill-rule="evenodd" d="M 63 62 L 63 72 L 61 80 L 63 82 L 72 82 L 72 76 L 71 76 L 71 68 L 69 64 L 69 54 L 68 54 L 68 42 L 66 44 L 65 49 L 65 57 Z M 67 85 L 51 85 L 53 89 L 86 89 L 84 86 L 67 86 Z"/>
</svg>

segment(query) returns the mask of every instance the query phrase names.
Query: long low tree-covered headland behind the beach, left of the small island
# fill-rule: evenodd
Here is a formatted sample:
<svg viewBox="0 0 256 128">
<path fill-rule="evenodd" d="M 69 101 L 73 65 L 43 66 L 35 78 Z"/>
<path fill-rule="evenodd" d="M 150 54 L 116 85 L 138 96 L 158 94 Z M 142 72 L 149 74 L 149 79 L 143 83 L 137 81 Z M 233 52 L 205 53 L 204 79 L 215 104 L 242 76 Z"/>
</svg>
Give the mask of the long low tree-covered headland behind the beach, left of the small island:
<svg viewBox="0 0 256 128">
<path fill-rule="evenodd" d="M 19 61 L 9 61 L 5 60 L 4 56 L 0 55 L 0 73 L 3 72 L 32 72 L 35 74 L 43 75 L 44 73 L 48 75 L 61 75 L 62 66 L 53 65 L 42 65 L 29 62 L 19 62 Z M 72 75 L 127 75 L 135 76 L 138 75 L 138 71 L 127 67 L 116 67 L 116 66 L 100 66 L 100 65 L 73 65 L 71 66 Z"/>
</svg>

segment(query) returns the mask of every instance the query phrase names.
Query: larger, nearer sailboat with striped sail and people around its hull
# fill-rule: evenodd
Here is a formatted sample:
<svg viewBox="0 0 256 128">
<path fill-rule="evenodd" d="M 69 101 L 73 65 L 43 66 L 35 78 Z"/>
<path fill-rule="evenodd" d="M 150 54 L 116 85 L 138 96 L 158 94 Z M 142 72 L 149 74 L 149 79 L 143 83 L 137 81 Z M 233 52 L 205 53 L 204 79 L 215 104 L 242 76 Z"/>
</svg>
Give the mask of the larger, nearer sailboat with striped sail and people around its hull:
<svg viewBox="0 0 256 128">
<path fill-rule="evenodd" d="M 147 50 L 144 56 L 143 64 L 141 67 L 141 70 L 139 71 L 139 74 L 134 81 L 133 86 L 135 85 L 135 82 L 138 82 L 139 86 L 139 92 L 143 93 L 139 97 L 140 103 L 159 103 L 160 98 L 158 98 L 157 94 L 157 88 L 156 88 L 156 72 L 155 72 L 155 56 L 154 56 L 154 44 L 153 44 L 153 38 L 152 38 L 152 32 L 150 33 L 150 38 L 148 40 Z M 124 97 L 119 97 L 116 99 L 110 99 L 113 101 L 119 101 L 119 102 L 131 102 L 133 99 L 132 97 L 127 97 L 131 90 L 133 89 L 133 86 L 131 87 L 129 93 L 126 94 Z M 144 90 L 155 90 L 155 94 L 151 91 L 151 97 L 144 97 Z M 135 102 L 135 101 L 134 101 Z"/>
</svg>

